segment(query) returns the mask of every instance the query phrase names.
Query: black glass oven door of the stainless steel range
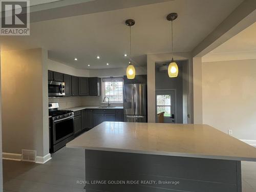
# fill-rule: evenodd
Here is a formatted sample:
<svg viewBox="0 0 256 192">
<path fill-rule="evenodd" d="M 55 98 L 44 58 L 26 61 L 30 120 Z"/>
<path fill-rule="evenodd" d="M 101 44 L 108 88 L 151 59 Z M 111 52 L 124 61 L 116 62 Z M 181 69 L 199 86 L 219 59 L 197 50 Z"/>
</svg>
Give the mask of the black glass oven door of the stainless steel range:
<svg viewBox="0 0 256 192">
<path fill-rule="evenodd" d="M 74 135 L 74 116 L 54 120 L 52 131 L 53 145 Z"/>
</svg>

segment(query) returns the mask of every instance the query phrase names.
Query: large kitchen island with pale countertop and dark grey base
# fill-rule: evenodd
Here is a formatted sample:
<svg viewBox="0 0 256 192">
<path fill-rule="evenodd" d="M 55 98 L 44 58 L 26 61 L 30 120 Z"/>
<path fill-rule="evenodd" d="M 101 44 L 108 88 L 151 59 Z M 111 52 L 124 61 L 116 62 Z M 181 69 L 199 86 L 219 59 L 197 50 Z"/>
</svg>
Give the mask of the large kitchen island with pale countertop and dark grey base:
<svg viewBox="0 0 256 192">
<path fill-rule="evenodd" d="M 90 191 L 242 191 L 256 148 L 203 124 L 103 122 L 67 147 L 86 153 Z"/>
</svg>

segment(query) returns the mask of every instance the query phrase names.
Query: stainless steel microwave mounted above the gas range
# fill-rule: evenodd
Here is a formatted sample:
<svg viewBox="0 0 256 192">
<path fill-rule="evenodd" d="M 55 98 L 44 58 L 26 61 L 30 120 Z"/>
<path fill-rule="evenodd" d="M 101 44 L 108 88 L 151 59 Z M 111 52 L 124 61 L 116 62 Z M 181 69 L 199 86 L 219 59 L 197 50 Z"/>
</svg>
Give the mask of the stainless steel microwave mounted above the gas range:
<svg viewBox="0 0 256 192">
<path fill-rule="evenodd" d="M 48 96 L 65 96 L 65 82 L 48 81 Z"/>
</svg>

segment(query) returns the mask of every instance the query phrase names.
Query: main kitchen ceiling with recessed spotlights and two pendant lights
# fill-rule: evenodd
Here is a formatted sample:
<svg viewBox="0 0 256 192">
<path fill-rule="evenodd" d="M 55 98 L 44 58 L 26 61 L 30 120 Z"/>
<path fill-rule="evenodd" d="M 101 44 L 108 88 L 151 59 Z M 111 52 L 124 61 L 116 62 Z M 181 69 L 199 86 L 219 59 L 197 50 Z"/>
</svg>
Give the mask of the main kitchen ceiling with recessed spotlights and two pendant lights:
<svg viewBox="0 0 256 192">
<path fill-rule="evenodd" d="M 174 22 L 174 51 L 188 52 L 240 3 L 242 0 L 175 0 L 46 20 L 32 23 L 30 36 L 1 36 L 1 49 L 42 47 L 49 50 L 51 59 L 78 69 L 122 68 L 129 62 L 123 56 L 129 54 L 129 27 L 124 22 L 133 18 L 132 59 L 143 66 L 147 53 L 170 52 L 170 23 L 165 18 L 168 13 L 179 15 Z"/>
</svg>

